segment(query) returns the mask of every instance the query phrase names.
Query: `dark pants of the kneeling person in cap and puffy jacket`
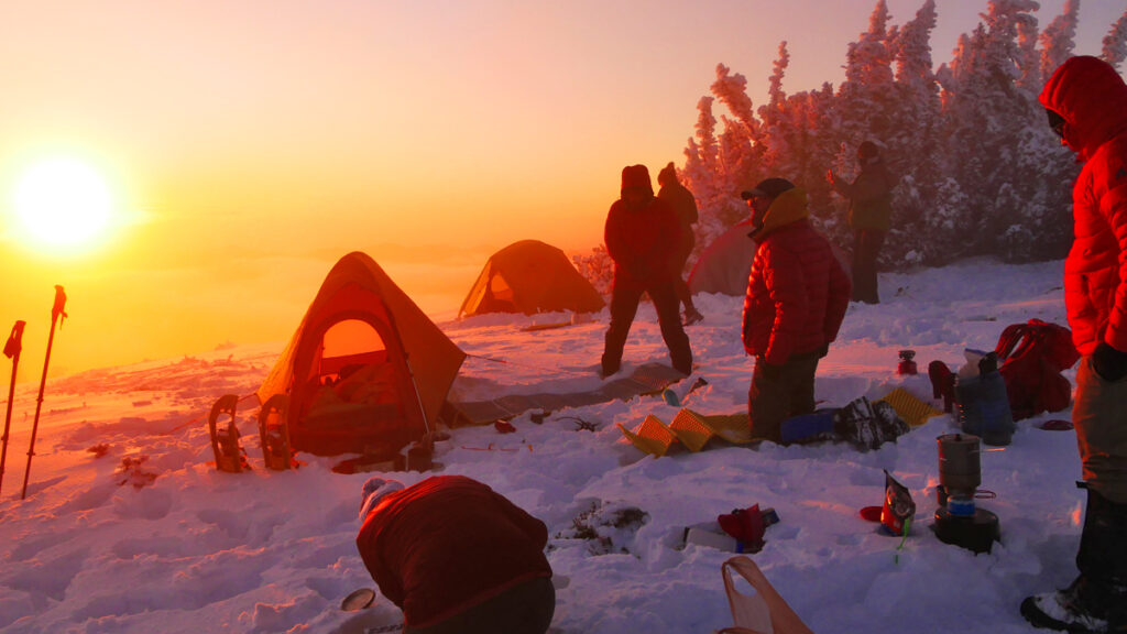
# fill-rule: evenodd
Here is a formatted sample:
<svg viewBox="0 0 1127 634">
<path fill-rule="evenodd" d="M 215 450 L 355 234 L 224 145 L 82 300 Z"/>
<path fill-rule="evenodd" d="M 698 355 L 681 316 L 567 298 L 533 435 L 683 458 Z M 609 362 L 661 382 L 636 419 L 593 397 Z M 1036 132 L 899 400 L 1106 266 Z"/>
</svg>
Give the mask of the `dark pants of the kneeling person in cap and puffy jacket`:
<svg viewBox="0 0 1127 634">
<path fill-rule="evenodd" d="M 818 353 L 795 354 L 767 376 L 762 356 L 755 358 L 752 387 L 747 390 L 747 415 L 752 438 L 779 442 L 782 422 L 791 416 L 814 413 L 814 375 Z"/>
</svg>

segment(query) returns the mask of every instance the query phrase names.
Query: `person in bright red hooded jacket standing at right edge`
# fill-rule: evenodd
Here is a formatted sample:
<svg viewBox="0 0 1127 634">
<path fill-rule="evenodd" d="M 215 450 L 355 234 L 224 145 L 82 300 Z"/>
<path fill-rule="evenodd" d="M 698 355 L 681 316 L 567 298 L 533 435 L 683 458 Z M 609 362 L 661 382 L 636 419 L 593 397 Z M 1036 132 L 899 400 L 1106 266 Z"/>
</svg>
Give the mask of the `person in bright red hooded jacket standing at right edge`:
<svg viewBox="0 0 1127 634">
<path fill-rule="evenodd" d="M 1076 370 L 1072 420 L 1088 490 L 1065 590 L 1027 598 L 1039 627 L 1127 632 L 1127 85 L 1108 63 L 1072 58 L 1040 95 L 1049 125 L 1084 164 L 1072 191 L 1074 241 L 1064 265 Z"/>
</svg>

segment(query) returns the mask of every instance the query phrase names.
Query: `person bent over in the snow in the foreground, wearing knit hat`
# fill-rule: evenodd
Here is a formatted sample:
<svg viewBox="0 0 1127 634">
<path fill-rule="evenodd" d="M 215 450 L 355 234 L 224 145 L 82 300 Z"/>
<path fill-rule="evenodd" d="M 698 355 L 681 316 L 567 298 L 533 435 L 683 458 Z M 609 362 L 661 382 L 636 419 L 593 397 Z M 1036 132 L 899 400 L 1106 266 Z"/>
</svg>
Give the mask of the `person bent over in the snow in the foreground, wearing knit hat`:
<svg viewBox="0 0 1127 634">
<path fill-rule="evenodd" d="M 364 565 L 406 634 L 543 634 L 556 610 L 548 529 L 464 476 L 364 484 Z"/>
</svg>

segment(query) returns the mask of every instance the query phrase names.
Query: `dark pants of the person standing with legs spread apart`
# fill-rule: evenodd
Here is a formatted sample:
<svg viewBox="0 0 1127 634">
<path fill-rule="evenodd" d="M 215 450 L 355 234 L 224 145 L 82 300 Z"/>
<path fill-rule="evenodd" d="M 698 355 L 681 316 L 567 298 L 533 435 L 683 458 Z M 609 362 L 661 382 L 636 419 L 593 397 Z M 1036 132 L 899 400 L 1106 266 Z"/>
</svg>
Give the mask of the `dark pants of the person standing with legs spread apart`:
<svg viewBox="0 0 1127 634">
<path fill-rule="evenodd" d="M 619 371 L 622 363 L 622 349 L 627 345 L 630 325 L 638 314 L 638 302 L 642 293 L 649 293 L 649 299 L 657 309 L 657 322 L 662 326 L 662 338 L 669 349 L 673 367 L 684 375 L 693 371 L 693 351 L 689 347 L 689 335 L 681 327 L 680 303 L 672 279 L 655 282 L 648 287 L 632 282 L 614 281 L 611 294 L 611 325 L 606 328 L 606 346 L 603 349 L 603 376 L 609 377 Z"/>
</svg>

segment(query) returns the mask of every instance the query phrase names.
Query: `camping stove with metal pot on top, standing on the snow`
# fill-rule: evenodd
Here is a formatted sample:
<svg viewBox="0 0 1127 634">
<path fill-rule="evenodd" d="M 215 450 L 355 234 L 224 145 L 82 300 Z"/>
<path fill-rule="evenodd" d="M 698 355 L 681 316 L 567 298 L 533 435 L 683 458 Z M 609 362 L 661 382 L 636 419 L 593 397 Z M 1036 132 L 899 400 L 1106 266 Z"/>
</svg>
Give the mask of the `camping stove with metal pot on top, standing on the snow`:
<svg viewBox="0 0 1127 634">
<path fill-rule="evenodd" d="M 977 435 L 948 433 L 939 442 L 939 510 L 935 511 L 935 537 L 988 553 L 1000 539 L 997 516 L 975 508 L 975 493 L 982 484 L 980 440 Z"/>
</svg>

